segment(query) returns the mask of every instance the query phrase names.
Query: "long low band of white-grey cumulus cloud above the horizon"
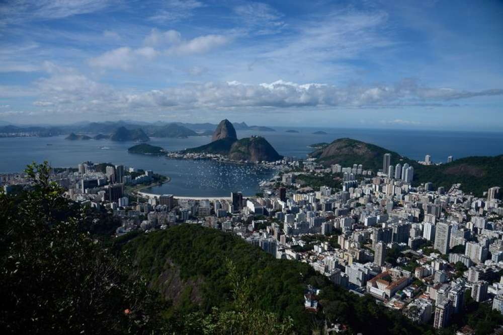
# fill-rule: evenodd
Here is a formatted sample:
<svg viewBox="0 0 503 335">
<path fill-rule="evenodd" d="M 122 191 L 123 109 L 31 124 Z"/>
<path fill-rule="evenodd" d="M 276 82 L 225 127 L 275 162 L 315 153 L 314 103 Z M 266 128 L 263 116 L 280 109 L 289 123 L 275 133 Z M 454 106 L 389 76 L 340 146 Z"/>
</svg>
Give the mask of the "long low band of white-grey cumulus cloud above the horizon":
<svg viewBox="0 0 503 335">
<path fill-rule="evenodd" d="M 264 108 L 379 108 L 436 104 L 453 99 L 503 95 L 503 90 L 456 91 L 427 88 L 417 84 L 336 87 L 325 83 L 295 83 L 277 80 L 258 85 L 239 81 L 187 83 L 179 87 L 147 92 L 118 91 L 93 81 L 72 69 L 47 64 L 51 76 L 37 82 L 35 105 L 50 111 L 135 111 L 158 113 L 166 110 L 198 109 L 263 110 Z M 433 97 L 428 99 L 425 97 Z M 395 119 L 385 124 L 415 125 Z"/>
</svg>

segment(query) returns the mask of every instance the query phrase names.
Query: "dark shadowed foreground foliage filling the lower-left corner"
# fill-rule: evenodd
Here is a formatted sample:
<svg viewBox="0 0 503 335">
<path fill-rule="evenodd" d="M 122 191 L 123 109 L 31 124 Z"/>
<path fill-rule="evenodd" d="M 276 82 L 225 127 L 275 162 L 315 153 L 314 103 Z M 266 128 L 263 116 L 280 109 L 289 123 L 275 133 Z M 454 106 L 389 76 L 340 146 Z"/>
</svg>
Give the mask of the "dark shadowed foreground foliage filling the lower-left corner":
<svg viewBox="0 0 503 335">
<path fill-rule="evenodd" d="M 0 194 L 3 333 L 144 333 L 157 305 L 146 283 L 100 248 L 50 167 L 29 165 L 33 187 Z"/>
</svg>

